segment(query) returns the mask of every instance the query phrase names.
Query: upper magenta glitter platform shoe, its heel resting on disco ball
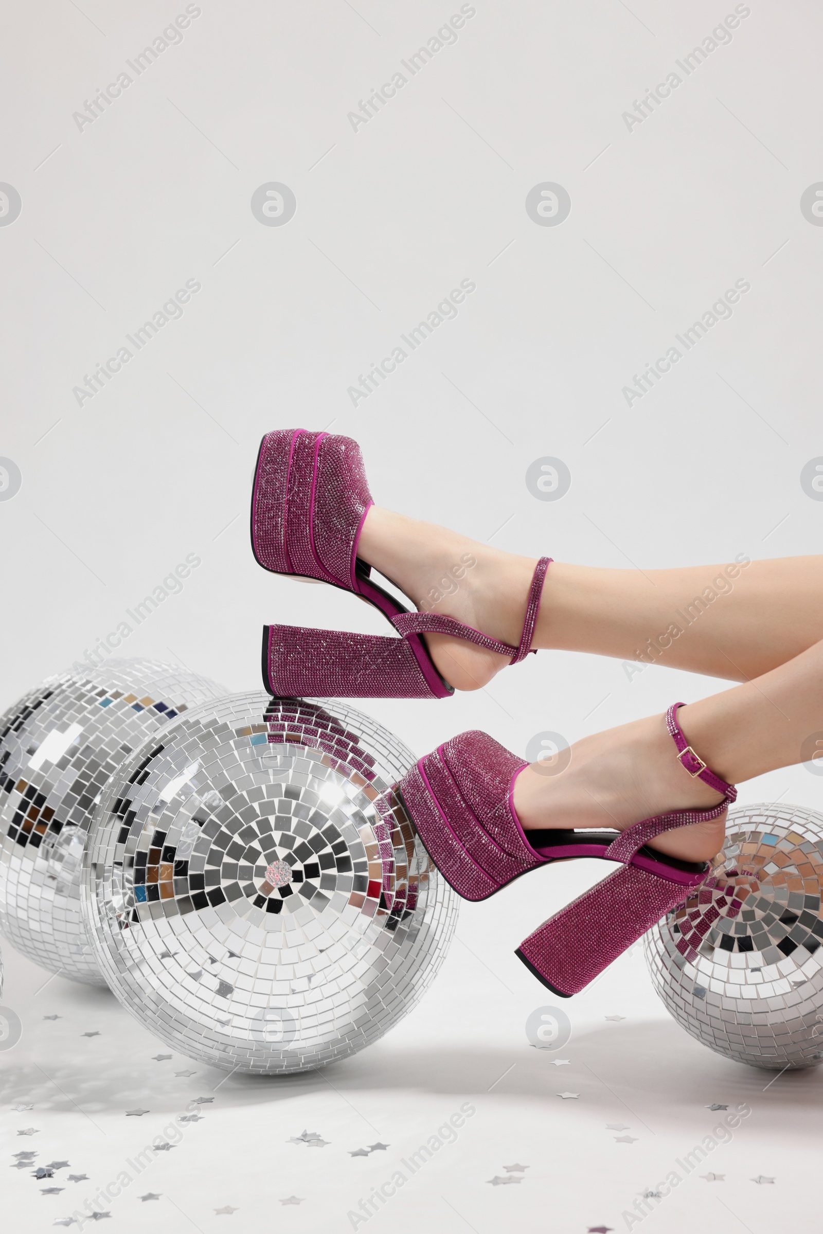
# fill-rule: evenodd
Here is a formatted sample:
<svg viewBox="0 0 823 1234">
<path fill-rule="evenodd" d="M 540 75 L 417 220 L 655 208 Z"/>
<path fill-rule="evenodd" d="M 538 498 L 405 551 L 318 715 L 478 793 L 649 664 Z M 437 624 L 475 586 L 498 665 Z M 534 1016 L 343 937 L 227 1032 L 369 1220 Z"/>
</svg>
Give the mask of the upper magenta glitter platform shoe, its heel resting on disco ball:
<svg viewBox="0 0 823 1234">
<path fill-rule="evenodd" d="M 357 555 L 373 505 L 360 449 L 350 437 L 276 429 L 260 443 L 252 495 L 252 552 L 275 574 L 318 579 L 374 605 L 401 637 L 299 626 L 263 629 L 263 680 L 281 697 L 447 698 L 454 690 L 428 654 L 426 633 L 444 633 L 508 655 L 532 650 L 545 570 L 538 561 L 518 647 L 452 617 L 407 612 Z"/>
</svg>

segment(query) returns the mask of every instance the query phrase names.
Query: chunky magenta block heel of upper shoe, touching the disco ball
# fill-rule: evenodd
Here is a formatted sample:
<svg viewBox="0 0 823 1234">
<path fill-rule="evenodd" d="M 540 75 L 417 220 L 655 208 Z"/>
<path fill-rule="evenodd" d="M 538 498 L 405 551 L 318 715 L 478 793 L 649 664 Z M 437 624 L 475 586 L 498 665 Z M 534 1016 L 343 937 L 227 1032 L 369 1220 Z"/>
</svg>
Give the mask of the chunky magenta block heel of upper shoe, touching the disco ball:
<svg viewBox="0 0 823 1234">
<path fill-rule="evenodd" d="M 263 627 L 263 681 L 286 698 L 447 698 L 420 637 Z"/>
</svg>

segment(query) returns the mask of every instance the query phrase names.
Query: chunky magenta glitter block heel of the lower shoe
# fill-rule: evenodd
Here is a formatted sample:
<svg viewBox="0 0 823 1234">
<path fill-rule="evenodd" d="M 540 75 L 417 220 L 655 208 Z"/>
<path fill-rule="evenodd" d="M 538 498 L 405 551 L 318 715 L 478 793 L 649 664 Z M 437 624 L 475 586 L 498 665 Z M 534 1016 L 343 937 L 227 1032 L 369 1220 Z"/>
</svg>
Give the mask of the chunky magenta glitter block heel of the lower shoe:
<svg viewBox="0 0 823 1234">
<path fill-rule="evenodd" d="M 686 882 L 671 882 L 624 865 L 543 922 L 515 955 L 552 993 L 570 998 L 685 900 L 707 872 L 705 864 L 691 876 L 684 874 Z"/>
</svg>

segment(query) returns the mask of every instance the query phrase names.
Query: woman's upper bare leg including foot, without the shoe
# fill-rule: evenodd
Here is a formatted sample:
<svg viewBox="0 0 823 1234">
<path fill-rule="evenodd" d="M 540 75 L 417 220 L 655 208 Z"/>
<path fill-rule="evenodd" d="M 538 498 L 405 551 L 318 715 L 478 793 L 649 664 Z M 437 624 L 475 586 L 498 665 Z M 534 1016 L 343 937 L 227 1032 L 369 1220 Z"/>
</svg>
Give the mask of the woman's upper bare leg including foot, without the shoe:
<svg viewBox="0 0 823 1234">
<path fill-rule="evenodd" d="M 359 553 L 418 608 L 517 645 L 536 559 L 378 506 L 366 516 Z M 426 638 L 439 671 L 458 690 L 484 686 L 508 663 L 445 634 Z M 821 638 L 823 557 L 671 570 L 554 561 L 533 645 L 748 681 Z"/>
</svg>

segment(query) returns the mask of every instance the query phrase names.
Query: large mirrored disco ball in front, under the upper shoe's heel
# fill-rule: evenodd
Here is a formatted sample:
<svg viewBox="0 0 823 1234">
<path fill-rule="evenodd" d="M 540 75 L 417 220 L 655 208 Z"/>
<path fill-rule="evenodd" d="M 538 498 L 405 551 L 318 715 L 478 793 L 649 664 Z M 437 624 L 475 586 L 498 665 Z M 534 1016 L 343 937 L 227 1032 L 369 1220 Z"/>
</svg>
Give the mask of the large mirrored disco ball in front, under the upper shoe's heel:
<svg viewBox="0 0 823 1234">
<path fill-rule="evenodd" d="M 457 921 L 391 791 L 413 760 L 345 703 L 257 692 L 133 755 L 95 811 L 83 880 L 117 998 L 226 1070 L 302 1071 L 381 1037 Z"/>
</svg>

